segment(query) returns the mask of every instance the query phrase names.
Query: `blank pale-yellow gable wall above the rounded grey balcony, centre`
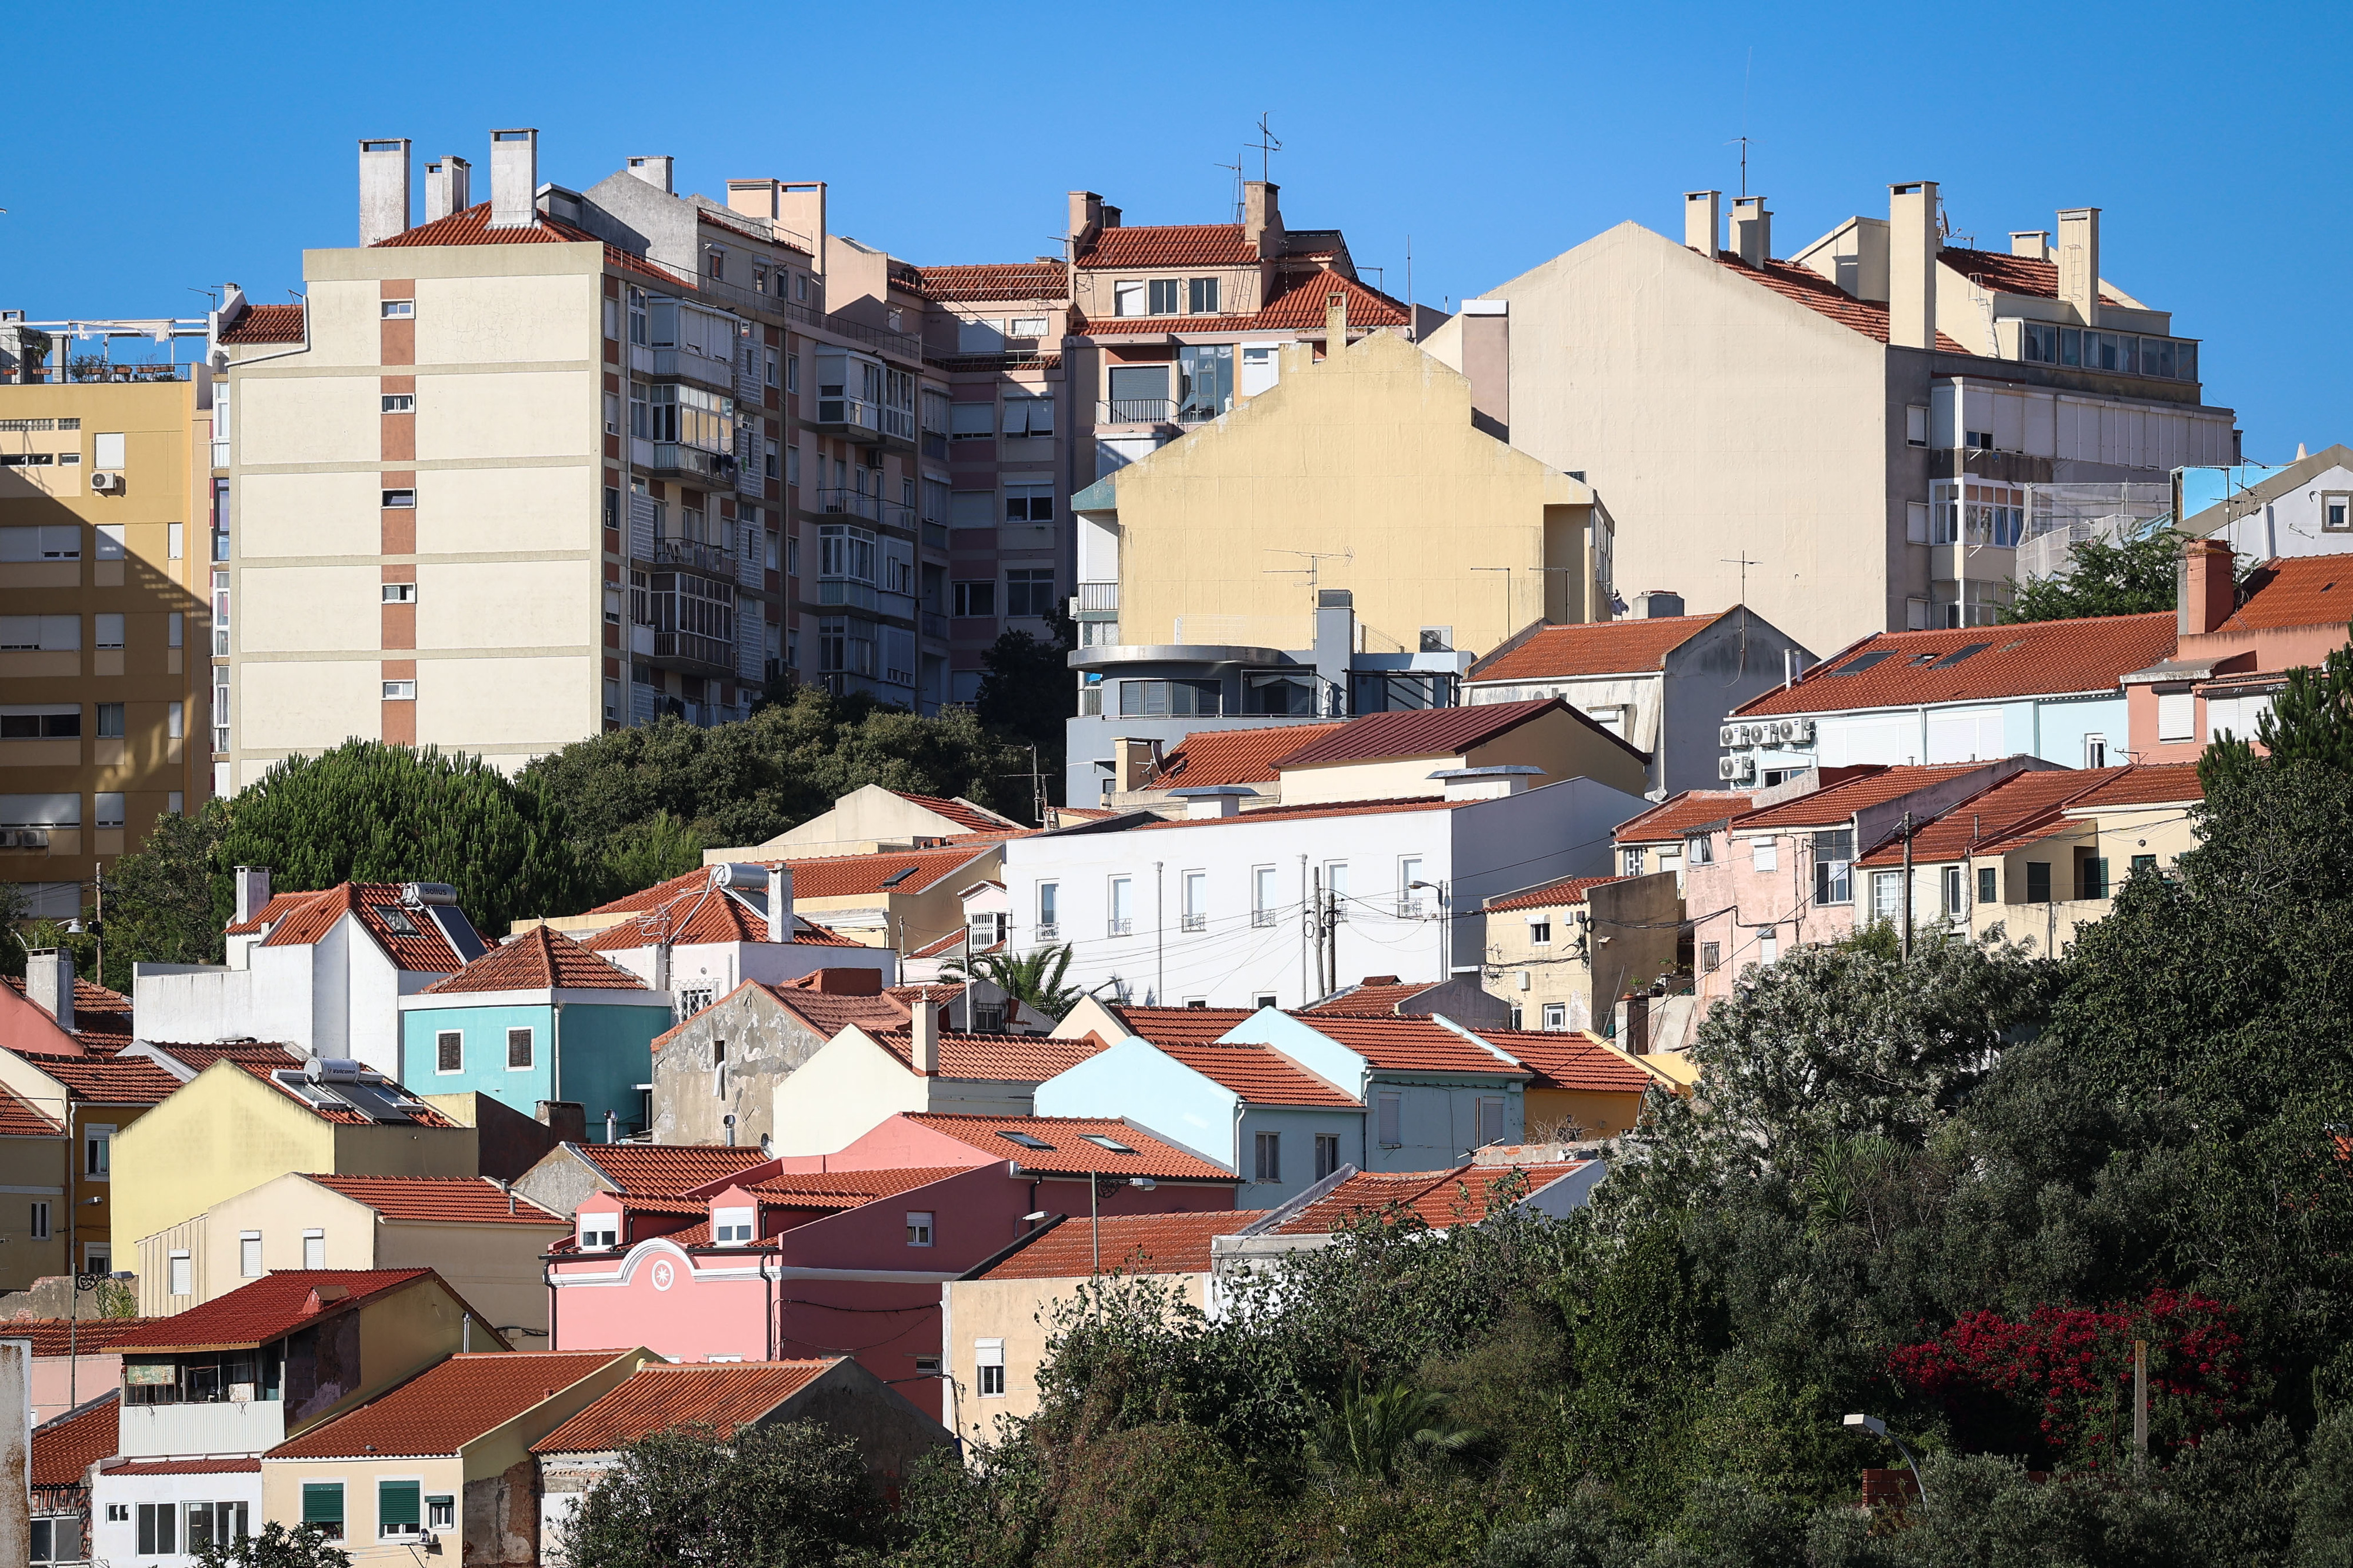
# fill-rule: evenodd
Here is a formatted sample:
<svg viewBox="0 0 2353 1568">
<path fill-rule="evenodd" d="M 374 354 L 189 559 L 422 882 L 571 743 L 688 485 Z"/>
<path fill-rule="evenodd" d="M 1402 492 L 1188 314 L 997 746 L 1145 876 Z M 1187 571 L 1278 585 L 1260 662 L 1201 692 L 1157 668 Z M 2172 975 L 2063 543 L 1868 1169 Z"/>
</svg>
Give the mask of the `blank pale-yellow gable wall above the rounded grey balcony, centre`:
<svg viewBox="0 0 2353 1568">
<path fill-rule="evenodd" d="M 1471 428 L 1471 384 L 1395 334 L 1308 363 L 1214 424 L 1118 471 L 1120 640 L 1261 640 L 1308 633 L 1297 553 L 1322 551 L 1320 589 L 1351 589 L 1369 647 L 1412 647 L 1421 626 L 1487 650 L 1544 605 L 1546 506 L 1591 492 Z M 1513 567 L 1511 603 L 1497 572 Z M 1228 622 L 1247 638 L 1209 638 Z M 1299 643 L 1287 643 L 1299 645 Z"/>
</svg>

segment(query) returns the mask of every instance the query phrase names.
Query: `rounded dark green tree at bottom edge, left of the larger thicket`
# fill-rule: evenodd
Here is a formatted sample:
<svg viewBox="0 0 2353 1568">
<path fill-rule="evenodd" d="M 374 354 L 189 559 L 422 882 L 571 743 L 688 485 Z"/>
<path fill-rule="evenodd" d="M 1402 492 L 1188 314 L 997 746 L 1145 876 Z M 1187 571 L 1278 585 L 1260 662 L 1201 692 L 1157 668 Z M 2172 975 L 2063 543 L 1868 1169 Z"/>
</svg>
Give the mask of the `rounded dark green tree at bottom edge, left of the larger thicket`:
<svg viewBox="0 0 2353 1568">
<path fill-rule="evenodd" d="M 826 1568 L 882 1544 L 856 1443 L 816 1422 L 638 1439 L 565 1528 L 574 1568 Z"/>
</svg>

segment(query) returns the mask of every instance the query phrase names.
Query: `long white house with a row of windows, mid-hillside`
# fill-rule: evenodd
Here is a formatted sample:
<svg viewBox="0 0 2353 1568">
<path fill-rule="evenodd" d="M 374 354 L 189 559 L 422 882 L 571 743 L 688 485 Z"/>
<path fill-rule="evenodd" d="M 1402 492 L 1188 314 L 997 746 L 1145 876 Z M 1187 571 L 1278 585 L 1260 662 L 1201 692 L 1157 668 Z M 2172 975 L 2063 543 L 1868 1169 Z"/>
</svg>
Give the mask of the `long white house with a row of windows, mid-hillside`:
<svg viewBox="0 0 2353 1568">
<path fill-rule="evenodd" d="M 1440 770 L 1438 798 L 1249 812 L 1247 786 L 1172 791 L 1186 817 L 1012 838 L 1007 946 L 1064 944 L 1071 984 L 1158 1003 L 1299 1008 L 1362 975 L 1475 972 L 1482 899 L 1607 871 L 1612 826 L 1645 810 L 1593 779 L 1527 789 L 1532 772 Z"/>
</svg>

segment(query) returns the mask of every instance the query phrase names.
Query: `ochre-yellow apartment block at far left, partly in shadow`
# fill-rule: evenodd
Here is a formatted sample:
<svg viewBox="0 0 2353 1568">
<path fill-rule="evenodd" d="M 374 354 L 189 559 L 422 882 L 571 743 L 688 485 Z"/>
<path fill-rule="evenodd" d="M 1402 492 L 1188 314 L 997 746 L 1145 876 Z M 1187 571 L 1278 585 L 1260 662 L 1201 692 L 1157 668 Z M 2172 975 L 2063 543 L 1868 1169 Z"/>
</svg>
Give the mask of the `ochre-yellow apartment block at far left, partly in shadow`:
<svg viewBox="0 0 2353 1568">
<path fill-rule="evenodd" d="M 172 344 L 205 323 L 136 323 Z M 202 735 L 212 374 L 75 358 L 134 323 L 0 313 L 0 881 L 71 918 L 165 812 Z"/>
</svg>

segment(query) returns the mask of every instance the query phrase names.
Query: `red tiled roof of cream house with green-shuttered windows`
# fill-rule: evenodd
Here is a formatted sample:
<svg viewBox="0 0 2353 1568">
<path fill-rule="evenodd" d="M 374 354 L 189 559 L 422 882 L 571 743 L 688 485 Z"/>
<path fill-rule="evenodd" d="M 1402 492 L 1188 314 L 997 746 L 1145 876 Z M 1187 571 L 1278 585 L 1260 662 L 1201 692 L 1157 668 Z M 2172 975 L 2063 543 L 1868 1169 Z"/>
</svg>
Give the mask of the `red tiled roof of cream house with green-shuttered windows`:
<svg viewBox="0 0 2353 1568">
<path fill-rule="evenodd" d="M 428 1457 L 459 1448 L 593 1377 L 628 1351 L 473 1351 L 426 1368 L 351 1415 L 271 1448 L 271 1460 Z"/>
</svg>

